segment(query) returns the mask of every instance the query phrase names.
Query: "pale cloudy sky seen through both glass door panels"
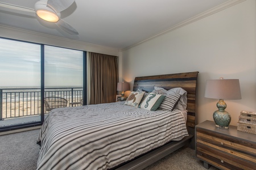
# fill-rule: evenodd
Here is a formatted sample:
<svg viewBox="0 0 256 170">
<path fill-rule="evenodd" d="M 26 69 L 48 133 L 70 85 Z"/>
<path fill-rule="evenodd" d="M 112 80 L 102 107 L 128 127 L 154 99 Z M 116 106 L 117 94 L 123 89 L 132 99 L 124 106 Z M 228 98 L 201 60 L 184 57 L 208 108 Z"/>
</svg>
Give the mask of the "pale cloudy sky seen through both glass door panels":
<svg viewBox="0 0 256 170">
<path fill-rule="evenodd" d="M 82 86 L 82 56 L 45 45 L 45 86 Z M 0 87 L 40 86 L 40 71 L 40 45 L 0 39 Z"/>
</svg>

